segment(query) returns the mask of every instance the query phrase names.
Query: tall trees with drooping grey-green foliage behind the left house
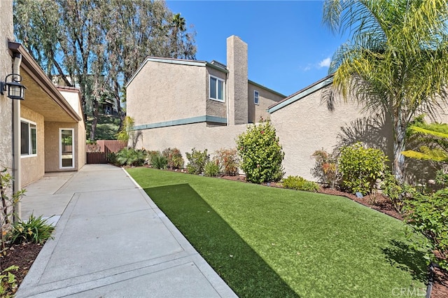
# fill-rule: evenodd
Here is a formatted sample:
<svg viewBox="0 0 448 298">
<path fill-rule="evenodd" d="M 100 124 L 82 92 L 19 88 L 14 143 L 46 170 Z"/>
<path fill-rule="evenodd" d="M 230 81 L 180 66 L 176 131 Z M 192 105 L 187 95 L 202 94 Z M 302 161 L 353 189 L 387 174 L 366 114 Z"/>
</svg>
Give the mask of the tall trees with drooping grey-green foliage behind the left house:
<svg viewBox="0 0 448 298">
<path fill-rule="evenodd" d="M 123 122 L 123 85 L 147 56 L 195 59 L 195 33 L 176 20 L 164 1 L 14 1 L 16 37 L 49 77 L 80 87 L 92 140 L 104 98 L 115 99 Z"/>
</svg>

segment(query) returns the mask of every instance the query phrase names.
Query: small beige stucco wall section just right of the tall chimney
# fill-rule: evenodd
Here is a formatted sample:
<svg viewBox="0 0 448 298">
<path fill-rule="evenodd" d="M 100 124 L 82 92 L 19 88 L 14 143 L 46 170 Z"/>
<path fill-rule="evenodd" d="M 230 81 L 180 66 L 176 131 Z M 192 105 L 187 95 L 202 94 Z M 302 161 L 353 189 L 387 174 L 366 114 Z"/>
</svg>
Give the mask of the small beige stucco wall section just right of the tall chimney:
<svg viewBox="0 0 448 298">
<path fill-rule="evenodd" d="M 255 104 L 254 102 L 254 91 L 258 91 L 258 104 Z M 262 87 L 255 86 L 248 83 L 248 97 L 247 97 L 247 104 L 248 104 L 248 122 L 255 123 L 260 122 L 260 117 L 262 117 L 265 120 L 270 119 L 269 113 L 267 113 L 267 108 L 269 106 L 272 106 L 276 102 L 281 101 L 285 97 L 281 97 L 279 94 L 276 94 L 274 92 L 270 92 L 269 90 L 266 90 Z"/>
</svg>

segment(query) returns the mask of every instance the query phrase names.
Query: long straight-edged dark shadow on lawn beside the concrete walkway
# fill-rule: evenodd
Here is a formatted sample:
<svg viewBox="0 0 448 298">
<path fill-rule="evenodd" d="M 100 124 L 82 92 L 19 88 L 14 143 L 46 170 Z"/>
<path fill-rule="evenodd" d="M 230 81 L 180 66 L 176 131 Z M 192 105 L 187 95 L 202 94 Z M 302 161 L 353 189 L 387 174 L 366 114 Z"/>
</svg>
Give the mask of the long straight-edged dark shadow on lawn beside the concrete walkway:
<svg viewBox="0 0 448 298">
<path fill-rule="evenodd" d="M 298 297 L 190 185 L 145 192 L 239 297 Z"/>
</svg>

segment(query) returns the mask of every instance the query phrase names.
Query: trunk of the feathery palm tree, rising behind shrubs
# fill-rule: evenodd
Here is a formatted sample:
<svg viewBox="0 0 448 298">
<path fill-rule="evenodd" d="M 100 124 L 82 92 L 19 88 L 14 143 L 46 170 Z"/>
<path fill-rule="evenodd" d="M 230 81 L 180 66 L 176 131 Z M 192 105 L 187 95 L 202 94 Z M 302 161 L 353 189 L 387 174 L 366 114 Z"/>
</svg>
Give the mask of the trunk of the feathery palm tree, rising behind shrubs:
<svg viewBox="0 0 448 298">
<path fill-rule="evenodd" d="M 406 150 L 406 127 L 398 115 L 393 121 L 393 175 L 400 183 L 405 180 L 405 156 L 401 152 Z"/>
</svg>

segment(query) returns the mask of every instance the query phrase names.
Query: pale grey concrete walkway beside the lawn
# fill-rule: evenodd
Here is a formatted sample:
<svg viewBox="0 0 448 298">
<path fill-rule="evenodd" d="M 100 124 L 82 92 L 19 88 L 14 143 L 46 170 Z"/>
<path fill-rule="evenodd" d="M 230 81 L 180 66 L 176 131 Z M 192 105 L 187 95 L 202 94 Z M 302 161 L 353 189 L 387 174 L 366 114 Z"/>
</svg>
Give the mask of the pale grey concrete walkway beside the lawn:
<svg viewBox="0 0 448 298">
<path fill-rule="evenodd" d="M 86 165 L 26 189 L 22 218 L 57 224 L 17 297 L 236 297 L 123 169 Z"/>
</svg>

